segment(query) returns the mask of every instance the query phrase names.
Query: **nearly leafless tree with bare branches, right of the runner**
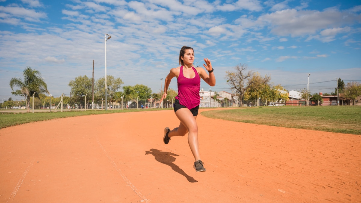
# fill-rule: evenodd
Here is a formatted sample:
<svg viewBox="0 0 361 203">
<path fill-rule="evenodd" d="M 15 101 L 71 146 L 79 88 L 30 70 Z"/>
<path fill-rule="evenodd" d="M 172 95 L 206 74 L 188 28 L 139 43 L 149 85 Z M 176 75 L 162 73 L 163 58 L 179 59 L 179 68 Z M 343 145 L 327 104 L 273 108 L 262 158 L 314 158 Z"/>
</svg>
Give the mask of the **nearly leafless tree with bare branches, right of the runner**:
<svg viewBox="0 0 361 203">
<path fill-rule="evenodd" d="M 248 66 L 246 64 L 239 64 L 234 67 L 234 72 L 226 71 L 225 76 L 225 79 L 227 79 L 227 83 L 231 89 L 240 93 L 239 99 L 241 105 L 243 104 L 244 92 L 252 85 L 252 81 L 250 79 L 253 75 L 253 71 L 249 70 L 247 72 L 247 68 Z"/>
</svg>

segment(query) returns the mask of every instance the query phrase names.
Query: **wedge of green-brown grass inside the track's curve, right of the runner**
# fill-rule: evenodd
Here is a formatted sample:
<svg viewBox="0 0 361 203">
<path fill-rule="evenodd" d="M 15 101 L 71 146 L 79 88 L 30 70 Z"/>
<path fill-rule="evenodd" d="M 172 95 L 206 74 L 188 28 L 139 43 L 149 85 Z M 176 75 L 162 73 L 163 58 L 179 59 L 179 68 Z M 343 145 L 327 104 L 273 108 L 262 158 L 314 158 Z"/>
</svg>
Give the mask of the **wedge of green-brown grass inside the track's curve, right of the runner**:
<svg viewBox="0 0 361 203">
<path fill-rule="evenodd" d="M 210 118 L 361 135 L 361 106 L 256 107 L 202 112 Z"/>
</svg>

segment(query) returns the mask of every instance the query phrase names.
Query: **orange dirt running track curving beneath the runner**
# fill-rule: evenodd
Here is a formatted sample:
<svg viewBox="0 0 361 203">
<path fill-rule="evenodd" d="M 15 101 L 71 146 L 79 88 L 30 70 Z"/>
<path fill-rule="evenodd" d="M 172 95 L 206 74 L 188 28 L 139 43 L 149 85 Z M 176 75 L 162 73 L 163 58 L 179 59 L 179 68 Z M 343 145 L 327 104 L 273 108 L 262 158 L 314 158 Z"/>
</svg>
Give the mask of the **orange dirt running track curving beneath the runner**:
<svg viewBox="0 0 361 203">
<path fill-rule="evenodd" d="M 201 110 L 204 111 L 204 110 Z M 199 115 L 206 172 L 171 110 L 0 130 L 1 202 L 361 202 L 361 137 Z"/>
</svg>

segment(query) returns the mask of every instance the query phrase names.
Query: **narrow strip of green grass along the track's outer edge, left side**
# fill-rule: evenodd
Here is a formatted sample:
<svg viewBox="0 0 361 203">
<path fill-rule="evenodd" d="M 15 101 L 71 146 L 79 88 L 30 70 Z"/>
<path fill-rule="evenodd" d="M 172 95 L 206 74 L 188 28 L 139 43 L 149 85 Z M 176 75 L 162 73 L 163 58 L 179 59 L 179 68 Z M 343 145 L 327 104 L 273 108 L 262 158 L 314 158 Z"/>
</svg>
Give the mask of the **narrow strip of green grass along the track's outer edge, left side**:
<svg viewBox="0 0 361 203">
<path fill-rule="evenodd" d="M 60 112 L 36 112 L 36 113 L 24 113 L 24 111 L 12 111 L 12 112 L 3 112 L 0 111 L 0 129 L 6 128 L 9 126 L 15 126 L 35 121 L 45 121 L 55 118 L 66 118 L 73 116 L 86 116 L 86 115 L 97 115 L 105 113 L 122 113 L 122 112 L 138 112 L 138 111 L 156 111 L 160 109 L 127 109 L 127 110 L 87 110 L 87 111 L 68 111 L 65 110 Z M 26 112 L 26 111 L 25 111 Z"/>
</svg>

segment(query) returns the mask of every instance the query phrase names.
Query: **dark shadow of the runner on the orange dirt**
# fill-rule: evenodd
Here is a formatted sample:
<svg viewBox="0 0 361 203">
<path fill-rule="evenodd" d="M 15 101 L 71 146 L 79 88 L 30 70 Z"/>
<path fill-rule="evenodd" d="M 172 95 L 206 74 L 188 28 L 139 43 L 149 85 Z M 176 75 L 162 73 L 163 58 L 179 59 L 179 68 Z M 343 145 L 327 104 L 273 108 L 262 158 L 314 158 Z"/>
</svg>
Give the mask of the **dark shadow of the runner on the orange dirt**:
<svg viewBox="0 0 361 203">
<path fill-rule="evenodd" d="M 193 177 L 188 176 L 187 173 L 185 173 L 181 168 L 179 168 L 177 165 L 173 163 L 175 161 L 175 157 L 173 156 L 179 156 L 178 154 L 173 154 L 171 152 L 162 152 L 156 149 L 150 149 L 150 151 L 145 151 L 145 155 L 148 154 L 153 155 L 155 159 L 160 163 L 169 165 L 175 172 L 186 177 L 189 182 L 198 182 L 194 180 Z"/>
</svg>

